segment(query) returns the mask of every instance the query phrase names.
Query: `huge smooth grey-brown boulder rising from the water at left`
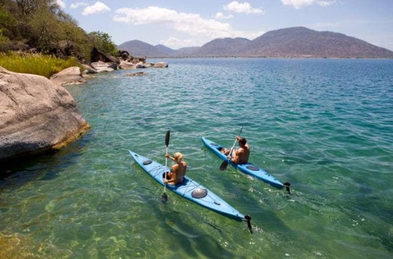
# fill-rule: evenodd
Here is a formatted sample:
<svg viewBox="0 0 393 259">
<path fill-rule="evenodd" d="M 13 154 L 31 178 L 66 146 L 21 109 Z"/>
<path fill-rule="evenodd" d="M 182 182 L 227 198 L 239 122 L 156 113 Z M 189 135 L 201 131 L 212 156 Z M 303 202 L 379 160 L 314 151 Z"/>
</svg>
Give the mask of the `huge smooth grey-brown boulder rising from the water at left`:
<svg viewBox="0 0 393 259">
<path fill-rule="evenodd" d="M 89 129 L 74 99 L 45 77 L 0 67 L 0 161 L 57 150 Z"/>
</svg>

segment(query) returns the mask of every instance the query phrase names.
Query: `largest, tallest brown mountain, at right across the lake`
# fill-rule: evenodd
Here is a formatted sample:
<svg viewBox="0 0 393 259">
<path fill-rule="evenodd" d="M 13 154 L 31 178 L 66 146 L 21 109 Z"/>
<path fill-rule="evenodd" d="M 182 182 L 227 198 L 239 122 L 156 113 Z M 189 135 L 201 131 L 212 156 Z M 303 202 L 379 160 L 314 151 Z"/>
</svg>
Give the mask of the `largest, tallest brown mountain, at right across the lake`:
<svg viewBox="0 0 393 259">
<path fill-rule="evenodd" d="M 393 57 L 393 52 L 363 40 L 306 27 L 268 31 L 245 46 L 241 54 L 270 57 Z"/>
</svg>

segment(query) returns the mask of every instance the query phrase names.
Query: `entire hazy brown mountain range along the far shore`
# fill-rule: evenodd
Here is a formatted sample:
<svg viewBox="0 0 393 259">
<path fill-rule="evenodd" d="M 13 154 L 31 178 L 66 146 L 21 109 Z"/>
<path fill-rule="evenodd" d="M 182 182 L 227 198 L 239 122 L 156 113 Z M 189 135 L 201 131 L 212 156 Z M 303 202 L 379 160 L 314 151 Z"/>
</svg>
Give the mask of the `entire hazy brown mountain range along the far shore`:
<svg viewBox="0 0 393 259">
<path fill-rule="evenodd" d="M 134 56 L 146 57 L 337 57 L 393 58 L 393 52 L 363 40 L 331 31 L 291 27 L 268 31 L 249 40 L 246 38 L 214 39 L 201 47 L 173 50 L 164 45 L 153 46 L 139 40 L 118 46 Z"/>
</svg>

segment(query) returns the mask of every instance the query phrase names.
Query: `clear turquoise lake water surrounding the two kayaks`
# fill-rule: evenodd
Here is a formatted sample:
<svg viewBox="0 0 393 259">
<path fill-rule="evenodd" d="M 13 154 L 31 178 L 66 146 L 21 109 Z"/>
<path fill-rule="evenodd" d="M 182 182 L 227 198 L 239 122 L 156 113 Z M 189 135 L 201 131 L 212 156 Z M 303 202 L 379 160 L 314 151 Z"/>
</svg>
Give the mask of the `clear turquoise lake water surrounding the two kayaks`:
<svg viewBox="0 0 393 259">
<path fill-rule="evenodd" d="M 154 61 L 154 60 L 153 60 Z M 7 167 L 2 258 L 392 258 L 393 60 L 168 59 L 168 69 L 69 86 L 92 129 Z M 251 162 L 287 195 L 220 161 L 240 127 Z M 244 214 L 236 222 L 169 193 L 127 149 L 165 162 Z"/>
</svg>

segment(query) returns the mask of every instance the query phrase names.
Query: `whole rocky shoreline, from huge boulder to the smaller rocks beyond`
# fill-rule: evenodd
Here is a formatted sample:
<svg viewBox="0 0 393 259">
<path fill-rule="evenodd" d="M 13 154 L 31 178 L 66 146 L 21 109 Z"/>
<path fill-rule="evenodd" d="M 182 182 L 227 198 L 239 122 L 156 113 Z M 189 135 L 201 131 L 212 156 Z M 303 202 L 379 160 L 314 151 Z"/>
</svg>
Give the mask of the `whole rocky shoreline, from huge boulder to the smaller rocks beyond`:
<svg viewBox="0 0 393 259">
<path fill-rule="evenodd" d="M 56 151 L 90 129 L 78 107 L 62 85 L 81 84 L 91 74 L 117 69 L 166 68 L 168 63 L 146 62 L 121 52 L 118 58 L 97 51 L 90 65 L 70 67 L 50 79 L 14 73 L 0 67 L 0 161 Z M 144 72 L 126 76 L 147 75 Z"/>
</svg>

